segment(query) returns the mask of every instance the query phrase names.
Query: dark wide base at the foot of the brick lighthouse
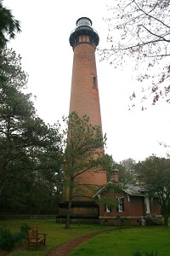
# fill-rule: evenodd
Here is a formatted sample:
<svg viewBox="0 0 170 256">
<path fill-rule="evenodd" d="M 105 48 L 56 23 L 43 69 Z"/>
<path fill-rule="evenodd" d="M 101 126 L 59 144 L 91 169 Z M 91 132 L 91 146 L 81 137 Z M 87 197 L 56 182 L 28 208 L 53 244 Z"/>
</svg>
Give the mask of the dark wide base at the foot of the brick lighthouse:
<svg viewBox="0 0 170 256">
<path fill-rule="evenodd" d="M 68 201 L 59 203 L 59 215 L 56 221 L 65 223 Z M 99 207 L 94 201 L 72 201 L 71 223 L 99 224 Z"/>
</svg>

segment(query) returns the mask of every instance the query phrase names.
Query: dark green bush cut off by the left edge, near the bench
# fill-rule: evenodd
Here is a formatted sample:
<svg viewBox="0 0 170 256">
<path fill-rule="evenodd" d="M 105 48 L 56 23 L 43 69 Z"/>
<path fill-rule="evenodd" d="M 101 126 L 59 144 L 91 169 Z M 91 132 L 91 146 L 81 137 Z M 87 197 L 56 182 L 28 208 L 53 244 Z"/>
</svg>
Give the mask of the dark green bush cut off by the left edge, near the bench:
<svg viewBox="0 0 170 256">
<path fill-rule="evenodd" d="M 7 226 L 0 228 L 0 248 L 4 251 L 11 251 L 14 248 L 14 237 Z"/>
</svg>

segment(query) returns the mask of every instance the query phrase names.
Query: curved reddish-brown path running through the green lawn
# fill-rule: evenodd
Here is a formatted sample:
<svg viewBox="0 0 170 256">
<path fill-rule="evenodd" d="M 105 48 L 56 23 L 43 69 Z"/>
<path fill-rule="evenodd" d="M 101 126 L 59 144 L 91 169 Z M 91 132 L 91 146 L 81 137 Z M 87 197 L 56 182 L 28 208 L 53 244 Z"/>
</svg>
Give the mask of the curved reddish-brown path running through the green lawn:
<svg viewBox="0 0 170 256">
<path fill-rule="evenodd" d="M 102 230 L 102 231 L 98 231 L 92 234 L 88 234 L 86 236 L 82 236 L 82 237 L 78 237 L 72 241 L 69 241 L 67 243 L 65 243 L 64 245 L 62 245 L 61 247 L 56 248 L 53 252 L 49 253 L 48 256 L 66 256 L 68 255 L 68 253 L 71 253 L 71 251 L 77 247 L 77 245 L 79 245 L 80 243 L 82 243 L 82 241 L 86 241 L 89 238 L 92 238 L 94 236 L 98 236 L 102 233 L 106 233 L 106 232 L 110 232 L 113 230 L 121 230 L 121 228 L 115 228 L 115 229 L 110 229 L 110 230 Z"/>
</svg>

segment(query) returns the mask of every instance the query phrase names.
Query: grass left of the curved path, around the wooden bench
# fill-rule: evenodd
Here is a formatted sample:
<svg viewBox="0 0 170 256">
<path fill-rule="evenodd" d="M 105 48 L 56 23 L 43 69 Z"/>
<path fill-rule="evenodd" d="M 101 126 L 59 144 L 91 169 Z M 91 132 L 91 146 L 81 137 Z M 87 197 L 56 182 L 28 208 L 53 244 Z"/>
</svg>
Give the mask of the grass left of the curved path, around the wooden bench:
<svg viewBox="0 0 170 256">
<path fill-rule="evenodd" d="M 37 227 L 39 232 L 47 233 L 46 246 L 41 245 L 37 251 L 27 250 L 27 244 L 24 243 L 8 256 L 43 256 L 53 251 L 56 247 L 71 241 L 79 236 L 94 233 L 100 230 L 107 230 L 113 227 L 100 226 L 99 224 L 71 224 L 70 230 L 65 230 L 65 224 L 56 224 L 55 219 L 39 220 L 39 219 L 7 219 L 0 220 L 0 226 L 6 225 L 13 232 L 20 231 L 22 224 L 28 224 L 31 228 Z M 3 252 L 0 252 L 0 256 Z"/>
</svg>

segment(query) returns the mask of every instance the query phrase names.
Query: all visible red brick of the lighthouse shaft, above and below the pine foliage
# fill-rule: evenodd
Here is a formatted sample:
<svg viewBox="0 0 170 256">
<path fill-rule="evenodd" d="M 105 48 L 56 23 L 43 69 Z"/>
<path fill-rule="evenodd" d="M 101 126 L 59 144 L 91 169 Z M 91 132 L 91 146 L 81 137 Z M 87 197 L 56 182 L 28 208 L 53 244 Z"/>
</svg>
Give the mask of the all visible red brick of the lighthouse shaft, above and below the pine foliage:
<svg viewBox="0 0 170 256">
<path fill-rule="evenodd" d="M 95 79 L 94 79 L 95 78 Z M 90 118 L 92 125 L 100 125 L 101 114 L 99 105 L 99 84 L 97 81 L 97 69 L 95 61 L 95 46 L 92 44 L 77 44 L 74 48 L 70 113 L 76 111 L 80 117 L 84 114 Z M 104 150 L 100 148 L 100 150 Z M 97 171 L 97 172 L 96 172 Z M 107 183 L 106 172 L 90 170 L 77 177 L 77 183 L 90 185 L 86 196 L 92 197 L 94 190 Z M 83 188 L 82 188 L 83 189 Z M 64 201 L 68 200 L 68 191 L 64 191 Z M 74 201 L 86 201 L 89 197 L 74 198 Z"/>
</svg>

